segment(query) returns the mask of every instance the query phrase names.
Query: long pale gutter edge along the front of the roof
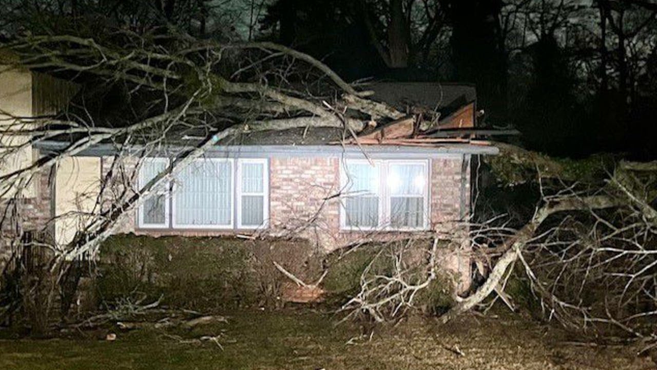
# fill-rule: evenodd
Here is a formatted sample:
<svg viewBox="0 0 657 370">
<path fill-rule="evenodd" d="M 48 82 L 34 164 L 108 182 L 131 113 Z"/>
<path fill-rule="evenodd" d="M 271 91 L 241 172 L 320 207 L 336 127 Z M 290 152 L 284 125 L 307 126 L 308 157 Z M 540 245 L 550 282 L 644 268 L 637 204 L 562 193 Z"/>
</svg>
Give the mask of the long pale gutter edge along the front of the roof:
<svg viewBox="0 0 657 370">
<path fill-rule="evenodd" d="M 34 147 L 47 153 L 60 153 L 66 147 L 66 142 L 43 141 Z M 194 146 L 168 145 L 157 149 L 149 149 L 148 155 L 174 156 L 183 151 L 194 149 Z M 114 144 L 96 144 L 83 149 L 76 156 L 106 157 L 116 155 L 122 150 Z M 143 145 L 131 145 L 127 153 L 144 151 Z M 430 158 L 446 155 L 497 155 L 499 149 L 491 145 L 472 144 L 439 144 L 434 147 L 414 147 L 404 145 L 216 145 L 208 148 L 206 157 L 326 157 L 327 155 L 349 155 L 350 157 L 374 158 Z M 143 154 L 143 153 L 141 153 Z"/>
</svg>

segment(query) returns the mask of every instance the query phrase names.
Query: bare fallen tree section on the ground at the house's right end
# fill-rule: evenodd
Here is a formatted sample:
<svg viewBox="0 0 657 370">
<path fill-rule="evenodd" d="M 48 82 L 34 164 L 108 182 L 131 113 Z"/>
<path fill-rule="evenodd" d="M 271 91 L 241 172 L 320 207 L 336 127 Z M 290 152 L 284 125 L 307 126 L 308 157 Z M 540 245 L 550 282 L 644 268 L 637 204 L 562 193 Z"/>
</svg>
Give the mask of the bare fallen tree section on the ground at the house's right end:
<svg viewBox="0 0 657 370">
<path fill-rule="evenodd" d="M 516 227 L 504 215 L 461 225 L 470 232 L 472 258 L 486 279 L 465 296 L 455 295 L 438 323 L 486 307 L 491 296 L 512 307 L 505 286 L 515 274 L 528 282 L 530 299 L 549 321 L 599 340 L 654 343 L 657 163 L 556 159 L 514 145 L 497 146 L 501 154 L 485 160 L 499 186 L 533 183 L 537 205 Z M 426 259 L 420 283 L 399 268 L 384 277 L 364 273 L 361 292 L 349 307 L 377 321 L 417 308 L 413 297 L 435 279 L 437 253 L 432 250 Z"/>
</svg>

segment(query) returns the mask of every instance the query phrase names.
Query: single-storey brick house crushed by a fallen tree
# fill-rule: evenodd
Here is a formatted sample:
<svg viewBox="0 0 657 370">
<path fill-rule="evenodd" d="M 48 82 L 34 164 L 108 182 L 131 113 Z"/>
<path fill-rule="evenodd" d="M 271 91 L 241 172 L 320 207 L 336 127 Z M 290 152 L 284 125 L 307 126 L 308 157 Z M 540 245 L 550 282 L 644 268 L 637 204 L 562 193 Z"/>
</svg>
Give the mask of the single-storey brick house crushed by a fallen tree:
<svg viewBox="0 0 657 370">
<path fill-rule="evenodd" d="M 52 112 L 76 92 L 66 82 L 44 79 L 27 70 L 0 74 L 5 117 Z M 356 138 L 339 128 L 244 132 L 210 147 L 181 169 L 137 211 L 124 215 L 114 232 L 301 236 L 327 251 L 363 240 L 451 232 L 471 212 L 472 164 L 479 155 L 497 153 L 495 147 L 472 139 L 474 87 L 380 82 L 371 89 L 374 100 L 394 105 L 407 116 L 370 127 Z M 40 110 L 45 106 L 49 111 Z M 437 110 L 444 118 L 436 127 L 419 128 L 417 109 Z M 0 199 L 5 215 L 0 237 L 7 241 L 24 232 L 40 232 L 56 245 L 67 244 L 94 213 L 115 202 L 117 194 L 141 188 L 166 169 L 186 147 L 185 140 L 194 138 L 188 135 L 177 144 L 148 150 L 101 142 L 39 171 L 18 203 Z M 68 145 L 61 138 L 26 145 L 24 158 L 5 162 L 0 176 Z M 469 278 L 469 257 L 455 255 L 453 265 Z"/>
</svg>

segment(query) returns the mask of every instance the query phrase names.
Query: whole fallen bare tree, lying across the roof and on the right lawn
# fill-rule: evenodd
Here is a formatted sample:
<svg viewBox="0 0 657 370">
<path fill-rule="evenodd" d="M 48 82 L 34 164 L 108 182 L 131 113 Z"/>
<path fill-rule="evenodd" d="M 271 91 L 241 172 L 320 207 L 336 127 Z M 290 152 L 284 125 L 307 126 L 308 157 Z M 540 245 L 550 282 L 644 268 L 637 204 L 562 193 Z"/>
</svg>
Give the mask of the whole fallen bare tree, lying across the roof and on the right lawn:
<svg viewBox="0 0 657 370">
<path fill-rule="evenodd" d="M 81 34 L 16 35 L 3 49 L 16 55 L 4 68 L 20 65 L 62 78 L 92 81 L 99 90 L 118 85 L 126 97 L 142 102 L 132 107 L 135 114 L 129 119 L 115 117 L 119 120 L 113 125 L 97 124 L 98 117 L 84 105 L 57 117 L 9 117 L 2 125 L 3 138 L 28 137 L 29 140 L 5 145 L 1 153 L 5 158 L 59 136 L 72 140 L 55 155 L 2 174 L 3 195 L 20 189 L 33 181 L 37 173 L 62 159 L 96 144 L 113 145 L 118 153 L 113 166 L 120 167 L 125 157 L 135 157 L 135 153 L 136 157 L 147 157 L 168 144 L 171 133 L 191 138 L 189 145 L 175 153 L 170 165 L 146 184 L 135 188 L 134 177 L 125 178 L 112 203 L 99 200 L 93 211 L 82 215 L 87 219 L 86 226 L 70 244 L 62 247 L 39 242 L 40 248 L 50 250 L 55 256 L 46 269 L 55 271 L 57 281 L 68 271 L 62 268 L 65 261 L 96 253 L 121 217 L 133 212 L 149 194 L 212 145 L 229 142 L 244 132 L 311 127 L 340 128 L 345 139 L 358 142 L 357 132 L 372 120 L 384 123 L 404 116 L 392 107 L 367 99 L 369 92 L 358 91 L 321 61 L 271 43 L 197 40 L 170 30 L 137 34 L 118 28 L 97 38 Z M 434 119 L 430 112 L 419 117 L 427 122 Z M 507 185 L 539 183 L 541 199 L 533 217 L 515 230 L 504 224 L 477 224 L 474 220 L 461 225 L 460 232 L 470 232 L 472 257 L 484 255 L 478 262 L 487 266 L 490 273 L 472 294 L 456 296 L 456 304 L 439 320 L 446 322 L 473 309 L 494 291 L 499 294 L 510 266 L 520 261 L 549 317 L 578 327 L 611 323 L 634 336 L 653 338 L 654 334 L 634 329 L 628 323 L 657 313 L 655 294 L 650 292 L 654 290 L 657 264 L 654 261 L 657 220 L 652 187 L 654 163 L 612 161 L 616 168 L 607 172 L 607 161 L 558 161 L 512 145 L 499 144 L 499 147 L 501 155 L 489 161 L 493 172 Z M 131 152 L 135 150 L 131 148 L 138 149 Z M 558 222 L 575 214 L 589 217 L 587 222 L 580 223 L 579 230 Z M 602 225 L 604 228 L 600 228 Z M 568 235 L 563 235 L 564 230 L 569 230 Z M 20 238 L 20 232 L 16 237 Z M 570 242 L 566 243 L 565 237 Z M 360 292 L 344 309 L 364 311 L 384 321 L 414 307 L 417 295 L 437 278 L 439 241 L 436 236 L 426 265 L 419 271 L 408 273 L 399 254 L 403 251 L 392 254 L 395 259 L 392 272 L 372 277 L 367 275 L 370 270 L 366 271 Z M 606 255 L 602 261 L 597 259 L 600 253 Z M 558 263 L 548 263 L 555 257 Z M 589 261 L 589 265 L 576 264 L 581 261 Z M 589 275 L 593 269 L 608 266 L 613 266 L 613 271 L 603 269 L 602 275 L 596 275 L 592 281 L 611 284 L 613 280 L 614 289 L 606 288 L 614 294 L 619 293 L 618 284 L 625 281 L 617 296 L 625 302 L 620 307 L 629 309 L 630 304 L 638 304 L 645 309 L 616 317 L 606 305 L 606 317 L 593 317 L 599 311 L 583 305 L 583 301 L 578 303 L 577 297 L 560 298 L 560 289 L 572 281 L 581 281 L 577 280 L 581 273 L 586 281 L 593 277 Z M 564 274 L 551 275 L 552 269 L 572 271 L 567 275 L 571 280 L 564 281 Z M 620 273 L 622 269 L 625 270 Z M 641 296 L 641 300 L 625 299 L 630 288 L 629 296 L 633 299 Z"/>
</svg>

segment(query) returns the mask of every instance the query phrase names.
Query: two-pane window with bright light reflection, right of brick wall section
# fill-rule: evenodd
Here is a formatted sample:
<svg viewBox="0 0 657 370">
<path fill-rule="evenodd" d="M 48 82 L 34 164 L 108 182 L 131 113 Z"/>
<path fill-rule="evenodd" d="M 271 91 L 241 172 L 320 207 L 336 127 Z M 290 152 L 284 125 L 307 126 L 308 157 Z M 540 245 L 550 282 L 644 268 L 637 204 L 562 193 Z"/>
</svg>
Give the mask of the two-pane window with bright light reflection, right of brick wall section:
<svg viewBox="0 0 657 370">
<path fill-rule="evenodd" d="M 350 230 L 428 227 L 427 161 L 346 160 L 340 223 Z"/>
</svg>

